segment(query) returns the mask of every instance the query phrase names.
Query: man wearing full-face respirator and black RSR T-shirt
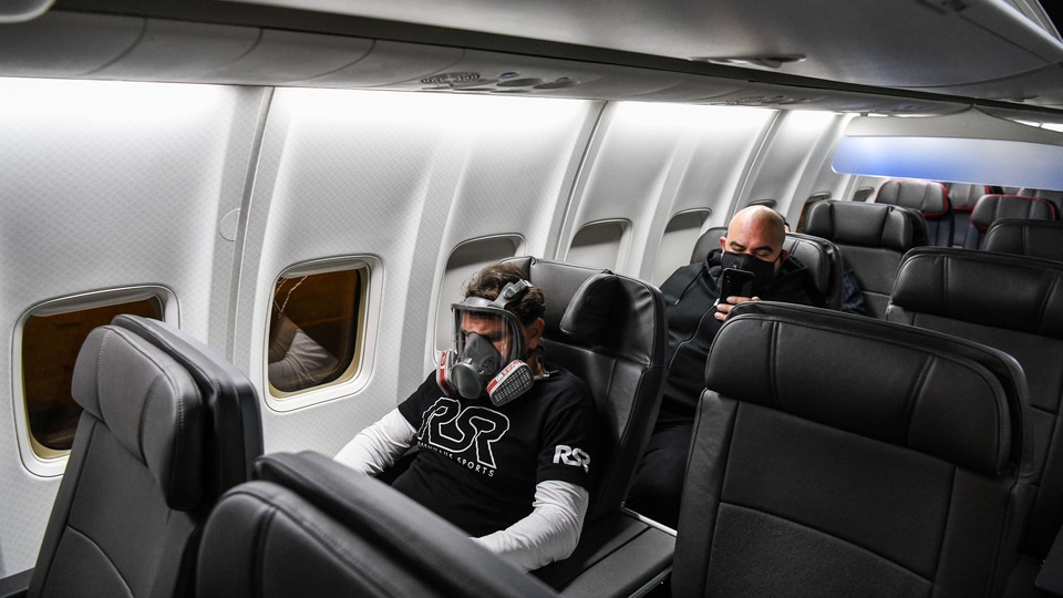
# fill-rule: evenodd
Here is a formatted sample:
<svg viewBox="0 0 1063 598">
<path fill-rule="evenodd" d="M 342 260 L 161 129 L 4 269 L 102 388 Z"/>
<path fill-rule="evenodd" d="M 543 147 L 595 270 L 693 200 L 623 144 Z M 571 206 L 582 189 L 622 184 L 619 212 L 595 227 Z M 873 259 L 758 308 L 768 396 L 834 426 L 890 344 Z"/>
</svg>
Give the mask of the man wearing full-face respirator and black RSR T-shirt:
<svg viewBox="0 0 1063 598">
<path fill-rule="evenodd" d="M 582 381 L 543 362 L 543 292 L 487 266 L 454 303 L 454 344 L 398 409 L 336 460 L 372 475 L 413 445 L 392 486 L 525 569 L 571 554 L 597 448 Z"/>
</svg>

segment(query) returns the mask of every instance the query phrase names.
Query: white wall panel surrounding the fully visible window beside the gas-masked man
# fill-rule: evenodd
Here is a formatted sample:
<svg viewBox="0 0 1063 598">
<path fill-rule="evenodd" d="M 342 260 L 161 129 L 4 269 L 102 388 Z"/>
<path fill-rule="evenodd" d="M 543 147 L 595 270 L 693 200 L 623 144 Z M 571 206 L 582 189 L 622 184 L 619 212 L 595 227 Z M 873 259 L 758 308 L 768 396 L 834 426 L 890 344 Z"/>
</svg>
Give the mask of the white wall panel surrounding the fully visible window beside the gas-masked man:
<svg viewBox="0 0 1063 598">
<path fill-rule="evenodd" d="M 247 204 L 234 361 L 261 388 L 276 277 L 371 255 L 379 334 L 361 388 L 264 410 L 268 451 L 338 451 L 424 379 L 436 289 L 463 240 L 517 234 L 543 255 L 559 226 L 597 105 L 581 101 L 277 90 Z M 446 289 L 455 292 L 456 289 Z M 451 299 L 445 299 L 450 301 Z M 332 393 L 332 394 L 330 394 Z M 326 400 L 327 399 L 327 400 Z"/>
</svg>

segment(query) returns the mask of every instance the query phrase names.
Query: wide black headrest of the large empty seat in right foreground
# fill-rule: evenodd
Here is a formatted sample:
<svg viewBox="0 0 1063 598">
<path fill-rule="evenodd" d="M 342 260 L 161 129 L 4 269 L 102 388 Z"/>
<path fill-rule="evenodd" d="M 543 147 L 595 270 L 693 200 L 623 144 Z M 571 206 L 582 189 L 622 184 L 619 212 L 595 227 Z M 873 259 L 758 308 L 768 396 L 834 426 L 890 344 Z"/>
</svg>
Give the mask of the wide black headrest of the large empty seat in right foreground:
<svg viewBox="0 0 1063 598">
<path fill-rule="evenodd" d="M 832 367 L 839 354 L 845 367 Z M 716 333 L 705 386 L 984 474 L 1029 463 L 1019 363 L 915 327 L 804 306 L 745 303 Z"/>
</svg>

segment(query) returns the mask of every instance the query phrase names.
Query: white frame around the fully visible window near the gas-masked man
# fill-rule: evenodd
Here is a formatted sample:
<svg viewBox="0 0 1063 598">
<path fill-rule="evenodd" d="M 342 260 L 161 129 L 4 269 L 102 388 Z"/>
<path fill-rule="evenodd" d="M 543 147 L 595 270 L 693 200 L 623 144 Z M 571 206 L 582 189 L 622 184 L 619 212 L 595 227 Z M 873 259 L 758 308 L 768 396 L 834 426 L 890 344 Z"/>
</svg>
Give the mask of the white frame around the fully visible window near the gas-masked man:
<svg viewBox="0 0 1063 598">
<path fill-rule="evenodd" d="M 281 278 L 322 275 L 345 270 L 365 269 L 365 279 L 361 285 L 358 306 L 358 331 L 354 338 L 354 352 L 351 362 L 340 377 L 333 381 L 317 384 L 298 391 L 281 391 L 269 381 L 269 332 L 272 315 L 274 291 Z M 269 279 L 269 286 L 262 289 L 261 298 L 265 302 L 260 318 L 262 343 L 260 348 L 260 388 L 266 405 L 276 412 L 289 412 L 297 409 L 316 405 L 349 396 L 362 390 L 373 371 L 376 331 L 380 323 L 381 289 L 383 287 L 383 268 L 373 256 L 343 256 L 312 259 L 292 264 Z M 350 371 L 353 368 L 353 371 Z"/>
</svg>

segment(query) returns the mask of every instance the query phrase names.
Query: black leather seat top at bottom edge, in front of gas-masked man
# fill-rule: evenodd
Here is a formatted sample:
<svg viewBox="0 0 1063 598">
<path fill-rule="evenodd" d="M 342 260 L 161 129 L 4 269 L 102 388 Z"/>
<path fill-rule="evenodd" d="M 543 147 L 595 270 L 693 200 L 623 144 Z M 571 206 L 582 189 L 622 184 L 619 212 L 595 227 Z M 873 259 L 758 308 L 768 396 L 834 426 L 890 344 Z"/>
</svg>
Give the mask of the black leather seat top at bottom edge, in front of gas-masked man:
<svg viewBox="0 0 1063 598">
<path fill-rule="evenodd" d="M 204 527 L 199 598 L 556 597 L 424 506 L 312 452 L 261 457 Z"/>
</svg>

